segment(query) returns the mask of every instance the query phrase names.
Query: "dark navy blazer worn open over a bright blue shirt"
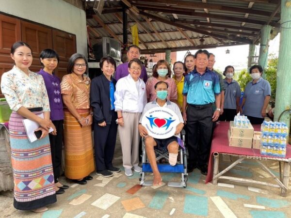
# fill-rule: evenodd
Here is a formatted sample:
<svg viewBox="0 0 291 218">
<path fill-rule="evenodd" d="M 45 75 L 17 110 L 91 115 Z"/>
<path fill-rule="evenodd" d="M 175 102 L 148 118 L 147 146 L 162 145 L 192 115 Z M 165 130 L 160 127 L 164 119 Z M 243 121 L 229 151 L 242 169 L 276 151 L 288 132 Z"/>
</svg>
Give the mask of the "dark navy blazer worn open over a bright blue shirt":
<svg viewBox="0 0 291 218">
<path fill-rule="evenodd" d="M 112 77 L 115 90 L 116 80 Z M 101 74 L 99 77 L 93 78 L 90 87 L 90 104 L 93 108 L 94 122 L 106 124 L 115 122 L 111 120 L 111 102 L 109 80 Z"/>
</svg>

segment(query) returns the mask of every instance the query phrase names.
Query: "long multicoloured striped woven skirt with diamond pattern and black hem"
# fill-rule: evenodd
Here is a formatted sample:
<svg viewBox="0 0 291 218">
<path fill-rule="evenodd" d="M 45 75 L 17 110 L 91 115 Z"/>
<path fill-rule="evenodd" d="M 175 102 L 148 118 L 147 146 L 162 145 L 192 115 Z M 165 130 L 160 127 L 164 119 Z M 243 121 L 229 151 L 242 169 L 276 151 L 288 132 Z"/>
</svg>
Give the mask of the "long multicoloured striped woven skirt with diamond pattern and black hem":
<svg viewBox="0 0 291 218">
<path fill-rule="evenodd" d="M 38 115 L 42 111 L 33 112 Z M 14 177 L 14 207 L 33 210 L 57 201 L 49 136 L 30 142 L 15 111 L 9 119 L 11 163 Z"/>
</svg>

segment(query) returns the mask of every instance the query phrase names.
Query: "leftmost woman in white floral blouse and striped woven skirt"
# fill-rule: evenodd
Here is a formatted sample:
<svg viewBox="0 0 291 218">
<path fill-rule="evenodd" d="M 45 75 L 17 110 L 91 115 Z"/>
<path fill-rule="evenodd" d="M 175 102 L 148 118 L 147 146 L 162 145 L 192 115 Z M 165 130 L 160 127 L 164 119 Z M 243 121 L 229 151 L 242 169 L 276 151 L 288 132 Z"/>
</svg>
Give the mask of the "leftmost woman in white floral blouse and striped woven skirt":
<svg viewBox="0 0 291 218">
<path fill-rule="evenodd" d="M 14 177 L 14 207 L 19 210 L 43 212 L 56 202 L 51 163 L 49 128 L 49 98 L 41 75 L 29 70 L 32 49 L 24 42 L 11 47 L 15 61 L 12 70 L 3 74 L 1 90 L 13 110 L 9 119 L 11 163 Z M 43 112 L 44 119 L 39 114 Z M 41 137 L 30 142 L 22 120 L 37 122 Z"/>
</svg>

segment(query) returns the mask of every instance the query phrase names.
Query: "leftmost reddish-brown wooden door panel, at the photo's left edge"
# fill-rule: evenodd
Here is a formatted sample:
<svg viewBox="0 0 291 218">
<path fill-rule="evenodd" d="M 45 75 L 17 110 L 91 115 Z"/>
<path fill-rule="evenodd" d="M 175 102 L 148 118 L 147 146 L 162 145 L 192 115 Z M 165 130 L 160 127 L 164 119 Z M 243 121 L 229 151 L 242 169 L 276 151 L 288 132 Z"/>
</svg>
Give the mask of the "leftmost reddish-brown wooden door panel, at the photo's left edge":
<svg viewBox="0 0 291 218">
<path fill-rule="evenodd" d="M 20 20 L 0 15 L 0 81 L 2 74 L 13 67 L 14 61 L 10 57 L 10 49 L 15 42 L 20 40 Z M 0 97 L 4 97 L 1 91 Z"/>
</svg>

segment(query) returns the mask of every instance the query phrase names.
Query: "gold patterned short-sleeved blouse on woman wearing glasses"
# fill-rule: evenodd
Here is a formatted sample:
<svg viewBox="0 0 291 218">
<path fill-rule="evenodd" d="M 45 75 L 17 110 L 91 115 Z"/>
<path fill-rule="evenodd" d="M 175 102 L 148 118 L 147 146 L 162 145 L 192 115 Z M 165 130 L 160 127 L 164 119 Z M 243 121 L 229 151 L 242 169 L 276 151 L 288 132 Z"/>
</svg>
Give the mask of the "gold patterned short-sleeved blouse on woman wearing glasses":
<svg viewBox="0 0 291 218">
<path fill-rule="evenodd" d="M 76 109 L 90 108 L 90 78 L 83 74 L 83 80 L 75 73 L 65 75 L 61 82 L 61 93 L 71 96 Z"/>
</svg>

